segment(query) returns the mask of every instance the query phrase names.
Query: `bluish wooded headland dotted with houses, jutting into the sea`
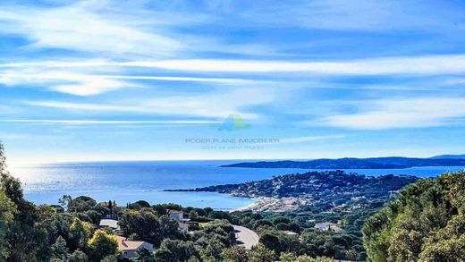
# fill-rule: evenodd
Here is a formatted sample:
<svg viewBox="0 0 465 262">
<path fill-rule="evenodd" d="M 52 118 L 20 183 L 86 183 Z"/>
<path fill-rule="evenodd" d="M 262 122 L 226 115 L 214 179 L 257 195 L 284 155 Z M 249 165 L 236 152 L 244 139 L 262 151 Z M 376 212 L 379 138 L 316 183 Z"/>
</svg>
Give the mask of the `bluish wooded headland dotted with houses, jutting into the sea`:
<svg viewBox="0 0 465 262">
<path fill-rule="evenodd" d="M 256 182 L 195 189 L 216 191 L 245 198 L 273 197 L 306 199 L 305 208 L 327 211 L 334 207 L 361 207 L 390 199 L 396 190 L 417 181 L 414 176 L 392 174 L 368 177 L 343 171 L 294 173 Z"/>
</svg>

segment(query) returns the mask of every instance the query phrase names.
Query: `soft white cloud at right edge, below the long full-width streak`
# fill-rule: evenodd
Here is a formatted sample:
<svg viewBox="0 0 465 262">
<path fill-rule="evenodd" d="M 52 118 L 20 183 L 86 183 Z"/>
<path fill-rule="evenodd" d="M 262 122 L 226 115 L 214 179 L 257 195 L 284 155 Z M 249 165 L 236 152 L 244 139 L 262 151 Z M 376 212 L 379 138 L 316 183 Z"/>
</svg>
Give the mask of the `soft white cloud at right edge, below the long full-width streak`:
<svg viewBox="0 0 465 262">
<path fill-rule="evenodd" d="M 376 100 L 369 105 L 372 109 L 328 116 L 318 123 L 354 130 L 385 130 L 441 126 L 465 117 L 465 98 L 461 97 Z"/>
</svg>

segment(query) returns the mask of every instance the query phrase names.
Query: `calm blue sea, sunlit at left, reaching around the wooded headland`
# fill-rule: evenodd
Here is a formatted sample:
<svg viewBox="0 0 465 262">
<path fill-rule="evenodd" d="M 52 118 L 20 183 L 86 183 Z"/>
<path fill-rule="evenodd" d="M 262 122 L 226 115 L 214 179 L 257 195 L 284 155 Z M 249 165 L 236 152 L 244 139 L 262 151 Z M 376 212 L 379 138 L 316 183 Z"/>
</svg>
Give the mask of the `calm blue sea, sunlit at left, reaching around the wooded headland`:
<svg viewBox="0 0 465 262">
<path fill-rule="evenodd" d="M 40 204 L 56 204 L 64 194 L 86 195 L 97 201 L 116 200 L 120 205 L 140 199 L 155 203 L 179 203 L 184 207 L 234 209 L 252 203 L 253 199 L 234 198 L 211 192 L 165 192 L 166 189 L 191 189 L 210 185 L 249 182 L 286 173 L 309 170 L 277 168 L 232 168 L 219 165 L 235 161 L 139 161 L 100 162 L 63 165 L 12 167 L 20 178 L 25 197 Z M 432 177 L 463 167 L 417 167 L 409 169 L 347 170 L 367 175 L 411 174 Z M 320 170 L 321 171 L 321 170 Z"/>
</svg>

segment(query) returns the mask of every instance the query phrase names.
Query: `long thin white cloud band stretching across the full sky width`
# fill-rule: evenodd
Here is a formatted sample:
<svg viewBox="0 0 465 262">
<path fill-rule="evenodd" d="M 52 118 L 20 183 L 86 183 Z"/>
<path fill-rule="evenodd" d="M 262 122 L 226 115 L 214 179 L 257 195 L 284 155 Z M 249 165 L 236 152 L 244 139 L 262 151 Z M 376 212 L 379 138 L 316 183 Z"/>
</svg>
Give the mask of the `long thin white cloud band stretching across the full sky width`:
<svg viewBox="0 0 465 262">
<path fill-rule="evenodd" d="M 185 72 L 300 72 L 327 75 L 446 74 L 465 72 L 465 55 L 423 55 L 369 58 L 345 61 L 283 62 L 258 60 L 158 60 L 158 61 L 43 61 L 3 63 L 0 67 L 139 67 Z"/>
</svg>

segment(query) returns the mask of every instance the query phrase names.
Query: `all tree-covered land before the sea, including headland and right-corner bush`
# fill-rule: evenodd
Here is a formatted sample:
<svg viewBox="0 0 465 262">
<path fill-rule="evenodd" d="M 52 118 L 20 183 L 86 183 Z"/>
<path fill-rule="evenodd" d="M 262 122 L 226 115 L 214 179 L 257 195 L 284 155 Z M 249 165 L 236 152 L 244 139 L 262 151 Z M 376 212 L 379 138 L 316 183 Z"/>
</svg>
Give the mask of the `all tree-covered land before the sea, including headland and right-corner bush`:
<svg viewBox="0 0 465 262">
<path fill-rule="evenodd" d="M 140 249 L 133 261 L 465 258 L 465 173 L 418 181 L 410 176 L 310 172 L 199 189 L 246 197 L 308 199 L 280 213 L 229 213 L 208 207 L 150 205 L 143 200 L 119 207 L 85 196 L 63 196 L 60 205 L 36 206 L 23 198 L 21 183 L 7 172 L 1 144 L 0 173 L 0 261 L 124 261 L 115 235 L 155 245 L 154 252 Z M 415 183 L 400 190 L 410 182 Z M 189 216 L 189 232 L 179 230 L 178 223 L 167 216 L 168 210 Z M 98 229 L 99 220 L 108 215 L 117 215 L 119 231 Z M 330 228 L 315 228 L 319 223 L 328 223 Z M 258 232 L 258 246 L 245 250 L 235 245 L 234 224 Z"/>
</svg>

